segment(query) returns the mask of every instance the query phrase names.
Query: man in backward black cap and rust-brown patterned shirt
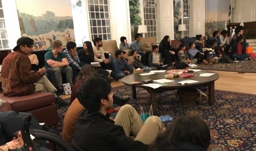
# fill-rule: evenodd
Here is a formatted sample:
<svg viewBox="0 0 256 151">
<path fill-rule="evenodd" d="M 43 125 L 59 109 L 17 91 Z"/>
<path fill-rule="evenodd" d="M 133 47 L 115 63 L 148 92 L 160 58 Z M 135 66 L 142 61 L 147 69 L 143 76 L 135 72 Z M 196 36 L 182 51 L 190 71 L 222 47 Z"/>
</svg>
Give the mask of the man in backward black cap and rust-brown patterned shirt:
<svg viewBox="0 0 256 151">
<path fill-rule="evenodd" d="M 4 58 L 2 64 L 3 94 L 8 97 L 28 95 L 36 91 L 48 91 L 55 94 L 56 88 L 46 76 L 43 76 L 46 71 L 44 67 L 38 72 L 31 72 L 28 55 L 33 51 L 33 39 L 19 38 L 13 51 Z M 61 100 L 57 96 L 56 98 L 58 105 Z"/>
</svg>

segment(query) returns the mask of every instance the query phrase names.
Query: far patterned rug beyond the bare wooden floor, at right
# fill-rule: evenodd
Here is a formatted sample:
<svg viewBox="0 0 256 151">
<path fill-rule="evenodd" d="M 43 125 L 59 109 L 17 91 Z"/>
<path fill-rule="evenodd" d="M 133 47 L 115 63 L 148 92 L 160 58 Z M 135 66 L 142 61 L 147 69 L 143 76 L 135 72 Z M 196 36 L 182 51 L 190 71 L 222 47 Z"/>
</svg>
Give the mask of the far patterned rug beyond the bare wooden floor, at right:
<svg viewBox="0 0 256 151">
<path fill-rule="evenodd" d="M 194 69 L 256 73 L 256 58 L 234 63 L 216 63 L 206 66 L 199 66 L 195 67 Z"/>
</svg>

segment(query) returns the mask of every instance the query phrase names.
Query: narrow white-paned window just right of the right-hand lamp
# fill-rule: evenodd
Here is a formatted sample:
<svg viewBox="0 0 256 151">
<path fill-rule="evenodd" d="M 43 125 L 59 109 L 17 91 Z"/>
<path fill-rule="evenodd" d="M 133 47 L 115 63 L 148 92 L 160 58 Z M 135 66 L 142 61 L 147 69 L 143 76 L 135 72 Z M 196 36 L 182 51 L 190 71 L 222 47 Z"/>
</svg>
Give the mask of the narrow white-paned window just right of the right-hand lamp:
<svg viewBox="0 0 256 151">
<path fill-rule="evenodd" d="M 183 37 L 189 37 L 189 6 L 188 0 L 183 0 L 183 24 L 186 25 L 186 31 L 183 33 Z"/>
</svg>

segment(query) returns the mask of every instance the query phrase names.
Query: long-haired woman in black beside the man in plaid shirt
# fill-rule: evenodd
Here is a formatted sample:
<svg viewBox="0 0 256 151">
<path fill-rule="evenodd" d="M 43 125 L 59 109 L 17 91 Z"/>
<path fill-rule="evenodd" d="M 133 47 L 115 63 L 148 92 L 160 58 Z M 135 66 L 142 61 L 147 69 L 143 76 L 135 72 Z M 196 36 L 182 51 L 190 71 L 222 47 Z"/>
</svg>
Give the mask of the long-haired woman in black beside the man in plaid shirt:
<svg viewBox="0 0 256 151">
<path fill-rule="evenodd" d="M 85 41 L 83 44 L 84 49 L 80 49 L 78 51 L 78 57 L 81 61 L 81 64 L 91 64 L 91 62 L 94 62 L 94 52 L 92 50 L 92 43 L 89 41 Z"/>
</svg>

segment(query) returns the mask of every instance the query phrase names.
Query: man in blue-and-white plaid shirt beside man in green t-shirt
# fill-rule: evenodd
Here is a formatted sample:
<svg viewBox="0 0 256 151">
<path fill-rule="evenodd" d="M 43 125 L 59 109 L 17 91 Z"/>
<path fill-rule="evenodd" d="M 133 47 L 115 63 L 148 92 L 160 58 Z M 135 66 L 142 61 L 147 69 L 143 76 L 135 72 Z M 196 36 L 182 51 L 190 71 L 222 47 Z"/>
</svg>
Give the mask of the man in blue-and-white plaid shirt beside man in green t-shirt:
<svg viewBox="0 0 256 151">
<path fill-rule="evenodd" d="M 79 72 L 81 70 L 81 66 L 80 66 L 80 60 L 77 56 L 77 52 L 76 52 L 76 43 L 74 42 L 68 42 L 67 43 L 67 49 L 65 49 L 64 54 L 67 57 L 69 66 L 72 67 L 73 70 L 73 82 L 77 76 L 77 72 Z M 79 71 L 77 71 L 79 70 Z"/>
</svg>

